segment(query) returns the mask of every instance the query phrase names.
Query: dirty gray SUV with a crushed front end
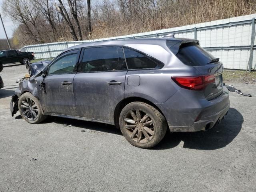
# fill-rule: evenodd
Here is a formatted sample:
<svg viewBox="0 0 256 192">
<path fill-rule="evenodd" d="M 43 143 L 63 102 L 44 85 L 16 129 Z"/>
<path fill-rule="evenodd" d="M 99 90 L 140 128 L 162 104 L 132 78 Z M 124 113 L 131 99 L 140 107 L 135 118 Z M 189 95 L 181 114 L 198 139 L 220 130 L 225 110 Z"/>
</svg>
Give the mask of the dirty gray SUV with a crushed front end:
<svg viewBox="0 0 256 192">
<path fill-rule="evenodd" d="M 198 40 L 113 40 L 64 50 L 23 80 L 10 104 L 29 123 L 48 115 L 120 128 L 151 148 L 171 132 L 212 128 L 228 112 L 223 65 Z"/>
</svg>

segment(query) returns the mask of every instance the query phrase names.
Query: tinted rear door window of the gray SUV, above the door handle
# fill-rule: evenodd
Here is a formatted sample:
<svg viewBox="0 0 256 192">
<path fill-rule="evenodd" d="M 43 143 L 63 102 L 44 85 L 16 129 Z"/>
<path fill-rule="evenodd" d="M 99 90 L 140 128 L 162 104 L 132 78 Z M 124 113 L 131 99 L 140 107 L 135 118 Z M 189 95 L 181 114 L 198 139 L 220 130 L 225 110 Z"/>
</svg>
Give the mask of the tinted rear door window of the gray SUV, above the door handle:
<svg viewBox="0 0 256 192">
<path fill-rule="evenodd" d="M 121 47 L 85 48 L 79 72 L 127 70 Z"/>
</svg>

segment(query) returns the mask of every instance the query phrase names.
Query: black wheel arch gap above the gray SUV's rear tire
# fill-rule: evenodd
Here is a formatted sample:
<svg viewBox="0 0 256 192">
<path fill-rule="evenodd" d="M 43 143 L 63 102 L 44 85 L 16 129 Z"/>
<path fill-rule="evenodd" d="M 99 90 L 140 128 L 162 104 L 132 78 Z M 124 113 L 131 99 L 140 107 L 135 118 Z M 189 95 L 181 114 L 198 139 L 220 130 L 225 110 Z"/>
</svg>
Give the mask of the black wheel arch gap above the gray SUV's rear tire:
<svg viewBox="0 0 256 192">
<path fill-rule="evenodd" d="M 164 114 L 162 113 L 162 111 L 160 110 L 160 108 L 158 108 L 158 106 L 156 106 L 156 104 L 154 104 L 153 102 L 145 99 L 145 98 L 141 98 L 141 97 L 128 97 L 128 98 L 124 98 L 122 101 L 120 101 L 117 105 L 116 108 L 114 110 L 114 123 L 115 126 L 117 128 L 119 127 L 119 116 L 120 116 L 120 112 L 122 111 L 122 109 L 124 108 L 124 106 L 126 106 L 127 104 L 131 103 L 131 102 L 144 102 L 146 104 L 149 104 L 151 106 L 153 106 L 154 108 L 156 108 L 163 116 Z M 165 118 L 165 116 L 164 116 Z"/>
</svg>

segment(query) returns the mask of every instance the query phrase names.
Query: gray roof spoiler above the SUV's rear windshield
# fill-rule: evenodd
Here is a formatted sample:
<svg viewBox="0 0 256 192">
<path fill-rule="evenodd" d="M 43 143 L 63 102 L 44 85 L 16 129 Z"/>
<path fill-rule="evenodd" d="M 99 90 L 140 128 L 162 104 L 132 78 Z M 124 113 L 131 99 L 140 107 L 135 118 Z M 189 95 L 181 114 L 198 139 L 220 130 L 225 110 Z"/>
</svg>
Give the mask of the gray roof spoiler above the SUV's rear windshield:
<svg viewBox="0 0 256 192">
<path fill-rule="evenodd" d="M 199 45 L 199 41 L 195 39 L 174 38 L 172 40 L 166 40 L 166 45 L 175 55 L 178 53 L 180 46 L 188 43 L 194 43 Z"/>
</svg>

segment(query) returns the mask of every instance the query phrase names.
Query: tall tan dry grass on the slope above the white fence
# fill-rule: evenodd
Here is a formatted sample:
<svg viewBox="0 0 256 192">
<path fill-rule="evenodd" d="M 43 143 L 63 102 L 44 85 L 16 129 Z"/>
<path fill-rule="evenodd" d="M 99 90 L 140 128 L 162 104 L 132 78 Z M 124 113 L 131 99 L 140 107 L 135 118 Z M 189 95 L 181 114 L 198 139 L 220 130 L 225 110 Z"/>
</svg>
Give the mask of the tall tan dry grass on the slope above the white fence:
<svg viewBox="0 0 256 192">
<path fill-rule="evenodd" d="M 164 28 L 172 28 L 213 20 L 226 19 L 236 16 L 253 14 L 256 12 L 256 0 L 191 0 L 188 3 L 176 1 L 156 12 L 156 17 L 146 17 L 142 22 L 136 18 L 122 20 L 116 12 L 114 18 L 94 25 L 91 38 L 107 38 L 148 32 Z"/>
</svg>

